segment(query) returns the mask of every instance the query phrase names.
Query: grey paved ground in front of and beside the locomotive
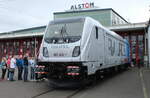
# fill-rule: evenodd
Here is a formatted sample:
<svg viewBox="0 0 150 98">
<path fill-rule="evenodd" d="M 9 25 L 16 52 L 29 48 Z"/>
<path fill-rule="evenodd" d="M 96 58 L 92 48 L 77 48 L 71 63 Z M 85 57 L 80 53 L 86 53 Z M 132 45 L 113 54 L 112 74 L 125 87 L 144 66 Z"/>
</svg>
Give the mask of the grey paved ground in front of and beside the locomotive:
<svg viewBox="0 0 150 98">
<path fill-rule="evenodd" d="M 48 82 L 0 82 L 0 98 L 32 98 L 51 90 Z M 57 89 L 36 98 L 150 98 L 150 69 L 130 69 L 105 78 L 93 87 L 76 90 Z"/>
</svg>

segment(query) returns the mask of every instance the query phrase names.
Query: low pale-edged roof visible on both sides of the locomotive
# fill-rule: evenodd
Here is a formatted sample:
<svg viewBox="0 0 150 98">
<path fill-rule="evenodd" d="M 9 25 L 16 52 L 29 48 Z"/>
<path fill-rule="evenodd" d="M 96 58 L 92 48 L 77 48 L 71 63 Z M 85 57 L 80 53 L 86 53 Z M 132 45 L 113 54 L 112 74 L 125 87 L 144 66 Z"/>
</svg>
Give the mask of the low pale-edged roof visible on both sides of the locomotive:
<svg viewBox="0 0 150 98">
<path fill-rule="evenodd" d="M 130 31 L 130 30 L 143 30 L 146 29 L 148 25 L 148 22 L 142 22 L 142 23 L 133 23 L 133 24 L 122 24 L 122 25 L 116 25 L 107 27 L 108 29 L 112 31 Z M 5 32 L 0 33 L 0 39 L 11 39 L 11 38 L 26 38 L 26 37 L 35 37 L 35 36 L 43 36 L 44 30 L 41 32 L 33 32 L 35 29 L 44 29 L 46 26 L 40 26 L 40 27 L 33 27 L 29 29 L 22 29 L 22 30 L 16 30 L 11 32 Z M 26 32 L 28 31 L 28 32 Z"/>
</svg>

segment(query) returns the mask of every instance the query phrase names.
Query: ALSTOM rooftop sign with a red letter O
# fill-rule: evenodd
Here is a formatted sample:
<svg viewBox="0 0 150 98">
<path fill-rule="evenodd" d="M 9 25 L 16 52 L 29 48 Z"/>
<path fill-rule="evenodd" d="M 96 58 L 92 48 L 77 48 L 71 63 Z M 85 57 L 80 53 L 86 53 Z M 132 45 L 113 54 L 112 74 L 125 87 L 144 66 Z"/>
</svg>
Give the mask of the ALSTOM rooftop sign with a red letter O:
<svg viewBox="0 0 150 98">
<path fill-rule="evenodd" d="M 71 10 L 85 9 L 85 8 L 94 8 L 94 2 L 71 5 L 70 7 Z"/>
</svg>

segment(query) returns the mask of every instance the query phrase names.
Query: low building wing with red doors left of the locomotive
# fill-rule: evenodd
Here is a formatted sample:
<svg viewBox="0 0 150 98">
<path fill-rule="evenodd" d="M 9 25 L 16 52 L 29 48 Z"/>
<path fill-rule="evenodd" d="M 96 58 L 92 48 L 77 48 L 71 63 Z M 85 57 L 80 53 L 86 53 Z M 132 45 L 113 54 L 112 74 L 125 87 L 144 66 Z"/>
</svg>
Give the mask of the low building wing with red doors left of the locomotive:
<svg viewBox="0 0 150 98">
<path fill-rule="evenodd" d="M 0 58 L 9 55 L 35 56 L 46 26 L 0 33 Z"/>
</svg>

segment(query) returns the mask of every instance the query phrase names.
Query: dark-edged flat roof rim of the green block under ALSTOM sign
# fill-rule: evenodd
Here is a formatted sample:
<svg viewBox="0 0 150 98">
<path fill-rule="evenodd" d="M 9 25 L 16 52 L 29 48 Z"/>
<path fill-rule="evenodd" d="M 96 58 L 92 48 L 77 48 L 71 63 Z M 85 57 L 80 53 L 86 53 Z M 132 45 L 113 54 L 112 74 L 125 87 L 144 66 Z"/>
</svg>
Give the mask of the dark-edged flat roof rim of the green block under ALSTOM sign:
<svg viewBox="0 0 150 98">
<path fill-rule="evenodd" d="M 105 8 L 105 9 L 83 9 L 83 10 L 69 10 L 69 11 L 65 11 L 65 12 L 54 12 L 54 15 L 57 14 L 67 14 L 67 13 L 79 13 L 79 12 L 93 12 L 93 11 L 106 11 L 106 10 L 111 10 L 113 11 L 116 15 L 118 15 L 121 19 L 123 19 L 125 22 L 128 23 L 127 20 L 125 20 L 121 15 L 119 15 L 115 10 L 113 10 L 112 8 Z"/>
</svg>

